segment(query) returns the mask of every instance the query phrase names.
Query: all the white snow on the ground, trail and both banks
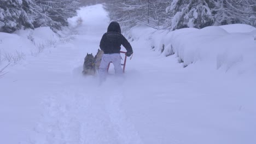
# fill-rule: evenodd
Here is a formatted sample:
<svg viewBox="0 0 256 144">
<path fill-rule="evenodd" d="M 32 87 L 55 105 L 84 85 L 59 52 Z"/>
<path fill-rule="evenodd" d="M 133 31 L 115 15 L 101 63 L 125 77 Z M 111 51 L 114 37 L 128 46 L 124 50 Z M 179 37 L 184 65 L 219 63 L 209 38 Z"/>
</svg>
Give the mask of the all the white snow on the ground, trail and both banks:
<svg viewBox="0 0 256 144">
<path fill-rule="evenodd" d="M 133 27 L 124 79 L 111 67 L 99 86 L 82 69 L 107 31 L 107 13 L 93 5 L 68 21 L 61 38 L 47 27 L 0 33 L 1 57 L 26 55 L 0 78 L 1 143 L 256 142 L 255 29 Z M 47 41 L 56 43 L 31 56 Z"/>
</svg>

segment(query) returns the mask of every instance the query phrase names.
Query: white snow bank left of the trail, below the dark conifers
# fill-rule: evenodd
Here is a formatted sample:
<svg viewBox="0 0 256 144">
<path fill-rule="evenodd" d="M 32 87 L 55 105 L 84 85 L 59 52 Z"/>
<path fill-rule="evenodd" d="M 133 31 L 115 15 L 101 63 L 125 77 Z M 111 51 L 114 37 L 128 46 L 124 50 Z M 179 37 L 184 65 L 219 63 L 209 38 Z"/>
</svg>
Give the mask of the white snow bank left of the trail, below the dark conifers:
<svg viewBox="0 0 256 144">
<path fill-rule="evenodd" d="M 36 56 L 44 49 L 54 47 L 58 40 L 59 36 L 49 27 L 0 33 L 0 68 L 7 63 L 18 63 L 27 56 Z"/>
</svg>

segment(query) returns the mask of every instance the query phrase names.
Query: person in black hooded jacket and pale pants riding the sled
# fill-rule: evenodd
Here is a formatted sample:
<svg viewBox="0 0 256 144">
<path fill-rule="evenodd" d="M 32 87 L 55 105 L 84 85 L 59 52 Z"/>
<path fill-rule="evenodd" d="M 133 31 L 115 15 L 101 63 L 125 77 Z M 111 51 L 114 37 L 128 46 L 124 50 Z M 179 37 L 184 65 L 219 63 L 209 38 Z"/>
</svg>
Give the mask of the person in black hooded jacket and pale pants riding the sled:
<svg viewBox="0 0 256 144">
<path fill-rule="evenodd" d="M 104 52 L 101 59 L 99 68 L 100 80 L 106 80 L 108 64 L 112 62 L 114 64 L 115 74 L 122 75 L 123 69 L 121 68 L 121 45 L 126 49 L 126 56 L 130 57 L 133 53 L 131 44 L 127 41 L 123 34 L 121 34 L 121 28 L 118 22 L 110 22 L 107 33 L 104 33 L 100 48 Z"/>
</svg>

